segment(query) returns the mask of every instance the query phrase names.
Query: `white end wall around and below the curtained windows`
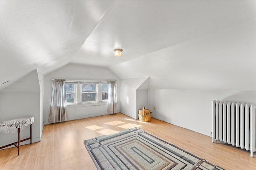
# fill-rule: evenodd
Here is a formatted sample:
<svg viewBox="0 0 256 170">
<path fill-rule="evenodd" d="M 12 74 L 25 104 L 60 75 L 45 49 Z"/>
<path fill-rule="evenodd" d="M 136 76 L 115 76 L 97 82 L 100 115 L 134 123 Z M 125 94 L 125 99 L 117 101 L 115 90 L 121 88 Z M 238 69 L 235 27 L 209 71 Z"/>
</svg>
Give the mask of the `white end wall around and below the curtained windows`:
<svg viewBox="0 0 256 170">
<path fill-rule="evenodd" d="M 120 79 L 105 67 L 68 64 L 44 77 L 44 124 L 48 124 L 52 95 L 52 79 L 68 80 L 117 80 L 117 111 L 120 112 Z M 106 115 L 107 102 L 68 105 L 68 120 Z"/>
</svg>

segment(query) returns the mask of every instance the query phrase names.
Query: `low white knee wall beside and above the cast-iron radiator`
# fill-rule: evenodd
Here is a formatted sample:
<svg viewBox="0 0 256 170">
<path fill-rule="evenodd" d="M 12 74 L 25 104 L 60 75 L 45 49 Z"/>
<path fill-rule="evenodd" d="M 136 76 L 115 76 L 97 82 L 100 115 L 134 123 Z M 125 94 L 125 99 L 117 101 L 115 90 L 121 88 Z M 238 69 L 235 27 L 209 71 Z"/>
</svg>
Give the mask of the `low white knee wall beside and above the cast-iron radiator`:
<svg viewBox="0 0 256 170">
<path fill-rule="evenodd" d="M 206 135 L 212 132 L 214 99 L 256 104 L 256 92 L 149 90 L 152 117 Z"/>
</svg>

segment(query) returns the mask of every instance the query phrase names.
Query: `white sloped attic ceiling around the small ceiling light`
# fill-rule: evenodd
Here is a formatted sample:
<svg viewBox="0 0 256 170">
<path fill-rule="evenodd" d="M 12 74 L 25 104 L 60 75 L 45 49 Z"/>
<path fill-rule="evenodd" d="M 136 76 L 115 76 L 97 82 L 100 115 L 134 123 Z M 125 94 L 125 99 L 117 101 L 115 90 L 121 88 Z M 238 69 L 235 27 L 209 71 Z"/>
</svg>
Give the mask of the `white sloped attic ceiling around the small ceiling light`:
<svg viewBox="0 0 256 170">
<path fill-rule="evenodd" d="M 254 0 L 0 0 L 0 89 L 72 62 L 156 88 L 256 91 L 255 30 Z"/>
</svg>

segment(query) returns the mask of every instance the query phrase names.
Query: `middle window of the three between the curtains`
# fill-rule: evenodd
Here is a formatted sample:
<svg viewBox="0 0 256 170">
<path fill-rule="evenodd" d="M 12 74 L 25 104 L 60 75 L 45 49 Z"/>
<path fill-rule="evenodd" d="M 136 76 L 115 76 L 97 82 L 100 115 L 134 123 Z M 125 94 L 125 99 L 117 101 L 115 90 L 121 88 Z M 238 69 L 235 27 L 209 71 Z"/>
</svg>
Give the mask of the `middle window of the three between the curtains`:
<svg viewBox="0 0 256 170">
<path fill-rule="evenodd" d="M 81 93 L 82 100 L 81 102 L 86 101 L 96 101 L 96 84 L 82 84 Z"/>
</svg>

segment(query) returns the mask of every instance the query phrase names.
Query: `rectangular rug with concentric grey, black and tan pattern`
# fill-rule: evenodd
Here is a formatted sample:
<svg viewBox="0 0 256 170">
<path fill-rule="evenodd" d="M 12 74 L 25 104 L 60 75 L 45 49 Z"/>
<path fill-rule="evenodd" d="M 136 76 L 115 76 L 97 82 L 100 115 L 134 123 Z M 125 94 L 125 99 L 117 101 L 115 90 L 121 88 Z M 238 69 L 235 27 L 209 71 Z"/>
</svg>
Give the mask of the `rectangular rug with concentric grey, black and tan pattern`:
<svg viewBox="0 0 256 170">
<path fill-rule="evenodd" d="M 84 145 L 99 170 L 224 170 L 137 127 Z"/>
</svg>

